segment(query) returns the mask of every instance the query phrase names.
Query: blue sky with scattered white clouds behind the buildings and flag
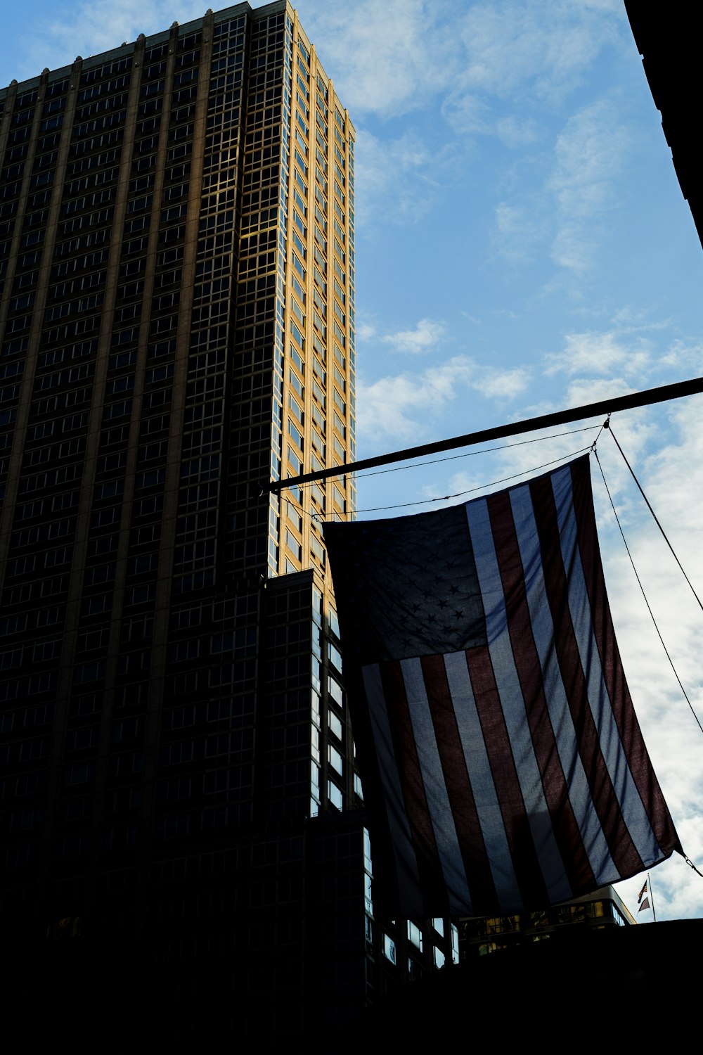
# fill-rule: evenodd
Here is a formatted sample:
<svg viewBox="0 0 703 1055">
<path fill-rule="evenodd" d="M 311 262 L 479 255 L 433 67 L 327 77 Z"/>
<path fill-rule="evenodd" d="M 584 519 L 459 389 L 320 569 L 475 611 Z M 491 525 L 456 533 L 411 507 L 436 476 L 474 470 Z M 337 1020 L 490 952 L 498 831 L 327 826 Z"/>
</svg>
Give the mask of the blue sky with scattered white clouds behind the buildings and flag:
<svg viewBox="0 0 703 1055">
<path fill-rule="evenodd" d="M 357 130 L 359 457 L 703 373 L 703 250 L 622 2 L 299 0 L 297 9 Z M 190 0 L 25 0 L 3 14 L 0 80 L 202 14 Z M 699 594 L 702 406 L 694 398 L 612 421 Z M 362 478 L 359 510 L 490 486 L 594 436 Z M 703 721 L 703 613 L 607 435 L 599 454 Z M 703 735 L 595 478 L 594 487 L 630 690 L 701 865 Z M 703 915 L 703 881 L 680 859 L 652 879 L 658 918 Z M 641 885 L 620 885 L 631 908 Z"/>
</svg>

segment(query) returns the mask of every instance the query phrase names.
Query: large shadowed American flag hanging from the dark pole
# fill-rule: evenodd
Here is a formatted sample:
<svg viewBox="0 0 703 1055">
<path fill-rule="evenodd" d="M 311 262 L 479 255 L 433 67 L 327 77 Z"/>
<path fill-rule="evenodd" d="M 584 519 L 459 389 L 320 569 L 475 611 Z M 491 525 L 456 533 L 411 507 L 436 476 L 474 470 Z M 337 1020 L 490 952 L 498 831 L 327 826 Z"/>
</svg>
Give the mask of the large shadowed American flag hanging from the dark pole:
<svg viewBox="0 0 703 1055">
<path fill-rule="evenodd" d="M 510 914 L 681 845 L 632 709 L 588 457 L 325 525 L 374 855 L 406 917 Z"/>
</svg>

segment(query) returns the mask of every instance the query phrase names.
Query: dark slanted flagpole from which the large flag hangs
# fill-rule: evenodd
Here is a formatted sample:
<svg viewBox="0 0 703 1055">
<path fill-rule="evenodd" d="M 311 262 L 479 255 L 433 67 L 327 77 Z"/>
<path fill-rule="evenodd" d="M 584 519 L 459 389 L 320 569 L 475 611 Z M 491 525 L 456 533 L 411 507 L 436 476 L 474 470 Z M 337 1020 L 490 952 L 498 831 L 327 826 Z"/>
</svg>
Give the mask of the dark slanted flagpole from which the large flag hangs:
<svg viewBox="0 0 703 1055">
<path fill-rule="evenodd" d="M 523 433 L 534 433 L 540 428 L 566 425 L 569 422 L 581 421 L 582 418 L 592 418 L 595 415 L 616 414 L 618 410 L 631 410 L 637 406 L 665 403 L 668 400 L 682 399 L 684 396 L 695 396 L 701 391 L 703 391 L 703 378 L 691 378 L 690 381 L 679 381 L 672 385 L 647 388 L 645 391 L 630 392 L 629 396 L 601 399 L 595 403 L 574 406 L 570 410 L 542 414 L 539 418 L 526 418 L 524 421 L 513 421 L 508 425 L 497 425 L 495 428 L 482 428 L 477 433 L 454 436 L 450 440 L 437 440 L 436 443 L 423 443 L 418 447 L 407 447 L 405 450 L 394 450 L 388 455 L 377 455 L 375 458 L 364 458 L 357 462 L 332 465 L 318 469 L 316 473 L 290 476 L 286 480 L 272 480 L 265 485 L 265 490 L 279 494 L 286 487 L 295 487 L 300 483 L 312 483 L 315 480 L 326 480 L 330 476 L 344 476 L 347 473 L 358 473 L 365 468 L 376 468 L 378 465 L 391 465 L 393 462 L 441 454 L 443 450 L 456 450 L 457 447 L 470 447 L 476 443 L 504 439 L 506 436 L 520 436 Z"/>
</svg>

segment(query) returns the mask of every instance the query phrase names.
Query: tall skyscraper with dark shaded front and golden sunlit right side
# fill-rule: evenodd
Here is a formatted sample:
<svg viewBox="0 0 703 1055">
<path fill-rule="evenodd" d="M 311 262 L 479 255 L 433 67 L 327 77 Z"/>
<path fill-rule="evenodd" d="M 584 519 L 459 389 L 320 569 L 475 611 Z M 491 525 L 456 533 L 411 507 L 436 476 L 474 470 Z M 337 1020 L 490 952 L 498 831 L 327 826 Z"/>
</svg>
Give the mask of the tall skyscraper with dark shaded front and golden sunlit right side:
<svg viewBox="0 0 703 1055">
<path fill-rule="evenodd" d="M 0 108 L 5 919 L 295 1033 L 451 956 L 374 929 L 319 526 L 353 480 L 266 490 L 355 456 L 354 129 L 286 0 Z"/>
</svg>

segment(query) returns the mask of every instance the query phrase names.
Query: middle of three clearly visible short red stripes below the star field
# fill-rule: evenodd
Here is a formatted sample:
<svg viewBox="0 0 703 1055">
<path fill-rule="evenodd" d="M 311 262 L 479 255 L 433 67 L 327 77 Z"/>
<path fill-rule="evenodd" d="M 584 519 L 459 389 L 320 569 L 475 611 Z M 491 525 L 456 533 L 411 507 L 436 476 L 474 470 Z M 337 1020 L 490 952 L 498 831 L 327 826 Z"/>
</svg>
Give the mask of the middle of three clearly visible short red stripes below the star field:
<svg viewBox="0 0 703 1055">
<path fill-rule="evenodd" d="M 492 913 L 497 903 L 497 896 L 466 769 L 444 657 L 423 656 L 421 663 L 473 913 L 476 916 Z M 468 668 L 466 678 L 468 689 Z"/>
</svg>

